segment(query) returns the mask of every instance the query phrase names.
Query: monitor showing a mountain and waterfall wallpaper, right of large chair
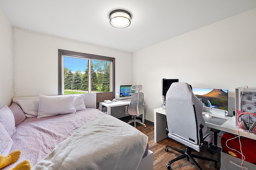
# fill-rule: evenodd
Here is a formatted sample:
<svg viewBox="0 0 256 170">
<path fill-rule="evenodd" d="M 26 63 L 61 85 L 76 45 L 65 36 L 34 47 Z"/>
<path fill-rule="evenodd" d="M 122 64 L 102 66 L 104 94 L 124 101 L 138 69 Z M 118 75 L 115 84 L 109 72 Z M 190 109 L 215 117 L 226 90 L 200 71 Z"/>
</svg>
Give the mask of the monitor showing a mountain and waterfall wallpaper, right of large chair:
<svg viewBox="0 0 256 170">
<path fill-rule="evenodd" d="M 228 114 L 228 90 L 215 88 L 192 88 L 193 93 L 202 102 L 204 111 Z"/>
</svg>

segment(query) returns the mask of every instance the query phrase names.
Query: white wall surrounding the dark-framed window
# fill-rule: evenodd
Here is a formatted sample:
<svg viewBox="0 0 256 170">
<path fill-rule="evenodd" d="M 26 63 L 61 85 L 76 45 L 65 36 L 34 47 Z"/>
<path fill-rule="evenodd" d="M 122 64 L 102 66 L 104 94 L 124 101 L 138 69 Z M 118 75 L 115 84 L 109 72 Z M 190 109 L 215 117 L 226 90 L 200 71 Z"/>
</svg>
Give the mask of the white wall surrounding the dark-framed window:
<svg viewBox="0 0 256 170">
<path fill-rule="evenodd" d="M 58 49 L 116 58 L 116 92 L 132 83 L 132 53 L 14 28 L 16 97 L 58 94 Z"/>
</svg>

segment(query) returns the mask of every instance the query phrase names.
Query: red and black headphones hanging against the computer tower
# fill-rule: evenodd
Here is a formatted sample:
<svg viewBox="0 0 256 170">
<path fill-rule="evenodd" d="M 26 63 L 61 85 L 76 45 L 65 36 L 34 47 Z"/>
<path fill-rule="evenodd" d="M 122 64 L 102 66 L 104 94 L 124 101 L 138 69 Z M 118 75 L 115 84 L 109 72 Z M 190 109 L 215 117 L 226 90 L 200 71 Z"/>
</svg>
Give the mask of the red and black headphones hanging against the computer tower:
<svg viewBox="0 0 256 170">
<path fill-rule="evenodd" d="M 242 119 L 242 115 L 252 115 L 256 118 L 256 113 L 249 113 L 249 112 L 242 112 L 240 110 L 237 110 L 238 115 L 237 115 L 237 125 L 241 128 L 244 129 L 246 131 L 250 131 L 250 132 L 256 132 L 256 121 L 254 121 L 254 123 L 252 123 L 252 125 L 250 126 L 250 123 L 248 121 L 248 125 L 246 123 L 245 120 Z M 241 119 L 240 119 L 241 117 Z"/>
</svg>

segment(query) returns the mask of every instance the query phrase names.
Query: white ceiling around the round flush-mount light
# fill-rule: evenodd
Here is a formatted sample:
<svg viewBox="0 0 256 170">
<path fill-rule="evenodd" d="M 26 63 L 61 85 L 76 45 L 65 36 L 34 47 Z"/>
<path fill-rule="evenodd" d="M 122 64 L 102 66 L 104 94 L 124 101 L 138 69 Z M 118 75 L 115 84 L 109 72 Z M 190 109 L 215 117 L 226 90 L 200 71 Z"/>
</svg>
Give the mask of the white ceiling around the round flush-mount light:
<svg viewBox="0 0 256 170">
<path fill-rule="evenodd" d="M 0 0 L 11 25 L 134 52 L 252 8 L 256 0 Z M 132 14 L 124 29 L 112 10 Z"/>
</svg>

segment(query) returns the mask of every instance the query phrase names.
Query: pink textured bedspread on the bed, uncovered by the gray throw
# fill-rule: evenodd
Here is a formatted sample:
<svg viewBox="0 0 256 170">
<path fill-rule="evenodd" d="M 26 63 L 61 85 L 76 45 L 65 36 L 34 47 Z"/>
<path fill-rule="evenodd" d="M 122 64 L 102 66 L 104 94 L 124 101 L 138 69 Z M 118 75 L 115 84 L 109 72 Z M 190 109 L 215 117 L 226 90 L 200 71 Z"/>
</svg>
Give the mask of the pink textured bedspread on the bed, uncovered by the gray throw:
<svg viewBox="0 0 256 170">
<path fill-rule="evenodd" d="M 27 118 L 16 127 L 16 133 L 12 136 L 14 144 L 10 152 L 16 149 L 21 150 L 20 159 L 3 170 L 8 170 L 25 159 L 30 160 L 33 166 L 98 113 L 101 113 L 98 109 L 87 108 L 73 114 L 40 119 Z"/>
</svg>

